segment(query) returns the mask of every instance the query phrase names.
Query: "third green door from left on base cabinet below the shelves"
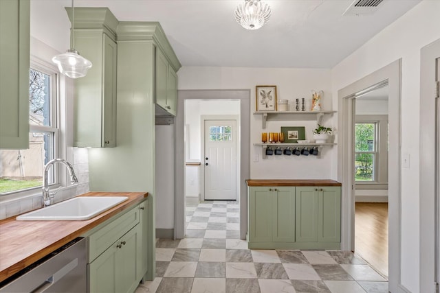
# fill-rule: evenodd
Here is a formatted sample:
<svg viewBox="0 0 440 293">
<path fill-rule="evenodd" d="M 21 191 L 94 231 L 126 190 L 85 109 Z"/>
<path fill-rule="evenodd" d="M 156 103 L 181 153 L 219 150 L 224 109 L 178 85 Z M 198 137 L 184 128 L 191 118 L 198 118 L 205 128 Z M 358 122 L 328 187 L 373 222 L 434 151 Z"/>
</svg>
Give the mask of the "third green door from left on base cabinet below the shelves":
<svg viewBox="0 0 440 293">
<path fill-rule="evenodd" d="M 296 242 L 318 241 L 318 189 L 296 187 Z"/>
</svg>

